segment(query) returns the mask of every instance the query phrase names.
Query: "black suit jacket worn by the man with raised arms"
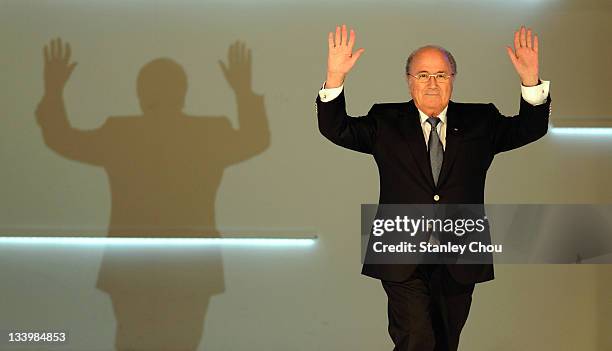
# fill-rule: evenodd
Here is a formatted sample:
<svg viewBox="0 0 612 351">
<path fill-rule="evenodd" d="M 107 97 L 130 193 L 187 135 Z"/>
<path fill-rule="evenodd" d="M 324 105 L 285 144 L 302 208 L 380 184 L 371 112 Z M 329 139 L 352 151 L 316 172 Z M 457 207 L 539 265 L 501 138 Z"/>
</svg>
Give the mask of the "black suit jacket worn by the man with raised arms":
<svg viewBox="0 0 612 351">
<path fill-rule="evenodd" d="M 451 101 L 436 186 L 413 101 L 375 104 L 367 116 L 359 118 L 346 114 L 344 92 L 330 102 L 321 102 L 317 96 L 316 102 L 321 134 L 334 144 L 374 156 L 380 204 L 482 204 L 493 157 L 544 136 L 550 115 L 550 97 L 538 106 L 521 99 L 520 112 L 514 117 L 503 116 L 493 104 Z M 364 264 L 362 274 L 403 281 L 415 268 L 413 264 Z M 449 264 L 448 271 L 461 283 L 494 278 L 492 264 Z"/>
</svg>

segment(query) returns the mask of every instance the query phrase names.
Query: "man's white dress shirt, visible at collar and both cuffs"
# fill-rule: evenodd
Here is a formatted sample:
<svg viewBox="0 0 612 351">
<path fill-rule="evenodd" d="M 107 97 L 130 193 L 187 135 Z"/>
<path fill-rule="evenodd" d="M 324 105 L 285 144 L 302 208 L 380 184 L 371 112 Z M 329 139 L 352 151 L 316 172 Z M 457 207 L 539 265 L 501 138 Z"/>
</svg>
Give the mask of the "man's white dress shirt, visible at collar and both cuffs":
<svg viewBox="0 0 612 351">
<path fill-rule="evenodd" d="M 323 83 L 323 87 L 325 87 L 325 83 Z M 333 99 L 337 98 L 340 93 L 344 89 L 344 85 L 341 85 L 337 88 L 321 88 L 319 90 L 319 97 L 321 98 L 321 102 L 329 102 Z M 526 87 L 521 85 L 521 95 L 523 96 L 523 100 L 532 104 L 533 106 L 541 105 L 546 101 L 548 97 L 548 92 L 550 91 L 550 81 L 543 80 L 541 84 Z M 440 115 L 437 117 L 440 118 L 440 123 L 436 126 L 438 130 L 438 136 L 440 136 L 440 141 L 442 142 L 442 147 L 446 150 L 446 110 L 448 106 L 440 112 Z M 421 118 L 421 128 L 423 129 L 423 136 L 425 137 L 425 144 L 429 141 L 429 133 L 431 133 L 431 124 L 427 123 L 427 116 L 423 111 L 419 110 L 419 116 Z"/>
</svg>

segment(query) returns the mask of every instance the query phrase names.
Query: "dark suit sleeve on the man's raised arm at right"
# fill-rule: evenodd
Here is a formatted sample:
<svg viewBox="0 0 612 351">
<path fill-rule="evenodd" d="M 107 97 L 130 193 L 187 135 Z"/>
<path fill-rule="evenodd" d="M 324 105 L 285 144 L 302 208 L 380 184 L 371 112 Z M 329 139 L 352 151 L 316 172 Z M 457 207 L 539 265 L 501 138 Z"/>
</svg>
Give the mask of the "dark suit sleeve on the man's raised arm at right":
<svg viewBox="0 0 612 351">
<path fill-rule="evenodd" d="M 521 98 L 519 114 L 513 117 L 502 115 L 493 104 L 489 104 L 492 117 L 492 143 L 495 153 L 513 150 L 534 142 L 548 131 L 550 95 L 546 101 L 533 106 Z"/>
</svg>

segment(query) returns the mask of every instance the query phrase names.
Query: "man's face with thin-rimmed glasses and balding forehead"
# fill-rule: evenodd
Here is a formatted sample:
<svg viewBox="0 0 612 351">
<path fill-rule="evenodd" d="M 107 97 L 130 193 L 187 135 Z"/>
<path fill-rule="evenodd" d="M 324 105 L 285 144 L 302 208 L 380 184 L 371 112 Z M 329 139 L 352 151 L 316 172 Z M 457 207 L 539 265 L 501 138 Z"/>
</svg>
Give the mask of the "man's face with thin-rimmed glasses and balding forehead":
<svg viewBox="0 0 612 351">
<path fill-rule="evenodd" d="M 426 48 L 419 51 L 412 59 L 410 73 L 413 76 L 419 73 L 446 73 L 451 75 L 452 69 L 446 55 L 435 48 Z M 448 105 L 453 92 L 454 76 L 450 79 L 437 80 L 429 77 L 425 82 L 407 76 L 410 95 L 418 109 L 428 115 L 438 114 Z"/>
</svg>

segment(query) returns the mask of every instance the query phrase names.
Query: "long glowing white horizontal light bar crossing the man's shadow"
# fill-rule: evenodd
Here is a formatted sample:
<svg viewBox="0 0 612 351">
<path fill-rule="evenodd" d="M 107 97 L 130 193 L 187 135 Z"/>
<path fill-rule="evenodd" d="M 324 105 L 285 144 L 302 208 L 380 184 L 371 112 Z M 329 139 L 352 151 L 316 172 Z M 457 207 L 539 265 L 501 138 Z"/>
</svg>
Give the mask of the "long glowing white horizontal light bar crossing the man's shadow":
<svg viewBox="0 0 612 351">
<path fill-rule="evenodd" d="M 108 238 L 108 237 L 0 237 L 1 245 L 114 246 L 114 247 L 307 247 L 311 238 Z"/>
</svg>

